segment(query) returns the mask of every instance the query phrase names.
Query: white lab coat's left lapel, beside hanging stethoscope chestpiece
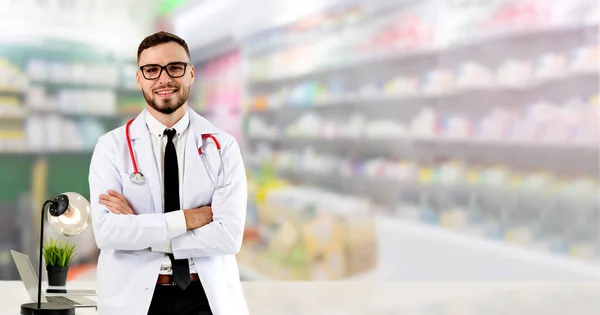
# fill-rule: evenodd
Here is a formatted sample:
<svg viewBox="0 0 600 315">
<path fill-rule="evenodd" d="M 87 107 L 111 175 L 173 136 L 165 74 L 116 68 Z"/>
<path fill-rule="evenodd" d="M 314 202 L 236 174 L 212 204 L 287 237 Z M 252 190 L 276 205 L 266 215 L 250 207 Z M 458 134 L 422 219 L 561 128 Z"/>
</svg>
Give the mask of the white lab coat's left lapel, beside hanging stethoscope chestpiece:
<svg viewBox="0 0 600 315">
<path fill-rule="evenodd" d="M 144 175 L 150 185 L 152 192 L 152 204 L 155 213 L 163 212 L 162 193 L 160 190 L 160 177 L 158 176 L 158 167 L 154 160 L 152 143 L 150 142 L 150 133 L 146 126 L 144 110 L 131 124 L 132 146 L 135 152 L 135 158 L 138 164 L 138 170 Z"/>
</svg>

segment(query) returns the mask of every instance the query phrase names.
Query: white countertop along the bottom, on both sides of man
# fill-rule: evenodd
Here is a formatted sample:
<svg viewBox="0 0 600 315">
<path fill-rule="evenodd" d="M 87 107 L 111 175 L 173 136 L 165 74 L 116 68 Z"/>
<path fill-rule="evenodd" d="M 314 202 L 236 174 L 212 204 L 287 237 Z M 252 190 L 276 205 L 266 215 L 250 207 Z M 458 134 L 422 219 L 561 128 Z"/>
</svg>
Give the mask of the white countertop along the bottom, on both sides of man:
<svg viewBox="0 0 600 315">
<path fill-rule="evenodd" d="M 595 314 L 598 282 L 244 282 L 250 314 Z M 73 281 L 73 289 L 94 282 Z M 30 302 L 20 281 L 0 281 L 2 314 Z M 77 309 L 78 315 L 96 314 Z"/>
</svg>

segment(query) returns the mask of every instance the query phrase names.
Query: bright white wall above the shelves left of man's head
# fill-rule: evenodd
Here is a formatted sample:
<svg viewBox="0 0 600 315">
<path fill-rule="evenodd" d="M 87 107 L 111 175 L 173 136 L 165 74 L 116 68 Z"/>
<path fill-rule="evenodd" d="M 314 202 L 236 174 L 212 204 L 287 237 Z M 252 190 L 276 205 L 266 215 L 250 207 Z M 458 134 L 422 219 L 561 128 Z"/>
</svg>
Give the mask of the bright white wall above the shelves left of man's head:
<svg viewBox="0 0 600 315">
<path fill-rule="evenodd" d="M 153 31 L 157 0 L 0 0 L 0 42 L 76 40 L 135 56 Z"/>
</svg>

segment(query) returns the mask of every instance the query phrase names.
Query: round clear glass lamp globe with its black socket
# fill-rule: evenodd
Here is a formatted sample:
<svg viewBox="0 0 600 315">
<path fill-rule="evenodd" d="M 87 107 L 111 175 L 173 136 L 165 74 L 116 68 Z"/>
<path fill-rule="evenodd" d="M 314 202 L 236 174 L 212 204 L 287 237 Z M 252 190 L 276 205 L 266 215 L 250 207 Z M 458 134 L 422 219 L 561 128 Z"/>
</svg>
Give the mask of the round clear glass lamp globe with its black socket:
<svg viewBox="0 0 600 315">
<path fill-rule="evenodd" d="M 54 197 L 57 206 L 48 207 L 48 222 L 58 233 L 78 235 L 91 224 L 90 203 L 80 194 L 66 192 Z"/>
</svg>

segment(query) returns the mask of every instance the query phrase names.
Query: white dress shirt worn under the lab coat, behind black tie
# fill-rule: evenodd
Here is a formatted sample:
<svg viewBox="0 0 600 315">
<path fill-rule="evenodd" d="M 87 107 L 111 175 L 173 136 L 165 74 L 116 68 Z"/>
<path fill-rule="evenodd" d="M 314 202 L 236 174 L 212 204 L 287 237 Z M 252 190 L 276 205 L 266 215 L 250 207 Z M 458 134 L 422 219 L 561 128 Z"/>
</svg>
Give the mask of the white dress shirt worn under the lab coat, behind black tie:
<svg viewBox="0 0 600 315">
<path fill-rule="evenodd" d="M 165 129 L 175 129 L 177 132 L 173 137 L 173 143 L 175 144 L 175 150 L 177 151 L 177 164 L 179 166 L 179 200 L 181 210 L 172 211 L 165 213 L 167 220 L 167 233 L 169 235 L 169 241 L 164 244 L 153 246 L 153 251 L 172 253 L 170 239 L 178 235 L 184 234 L 187 231 L 185 216 L 183 215 L 183 165 L 185 159 L 185 144 L 188 134 L 188 126 L 190 125 L 190 116 L 186 111 L 185 115 L 172 127 L 167 128 L 160 121 L 154 118 L 148 111 L 146 111 L 146 126 L 148 126 L 148 132 L 150 132 L 150 139 L 152 142 L 152 150 L 154 151 L 154 159 L 158 168 L 158 174 L 160 176 L 160 191 L 161 199 L 164 203 L 164 159 L 165 159 L 165 148 L 167 147 L 168 138 L 163 135 Z M 194 261 L 189 259 L 190 273 L 196 273 Z M 172 274 L 171 260 L 169 256 L 165 255 L 164 261 L 160 268 L 160 274 Z"/>
</svg>

